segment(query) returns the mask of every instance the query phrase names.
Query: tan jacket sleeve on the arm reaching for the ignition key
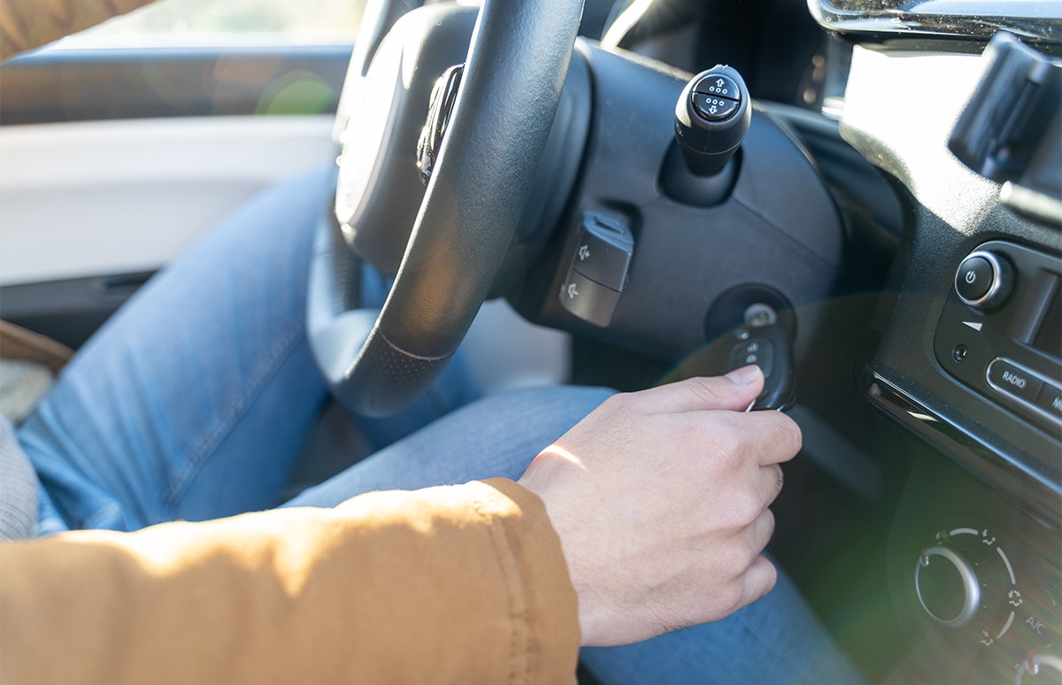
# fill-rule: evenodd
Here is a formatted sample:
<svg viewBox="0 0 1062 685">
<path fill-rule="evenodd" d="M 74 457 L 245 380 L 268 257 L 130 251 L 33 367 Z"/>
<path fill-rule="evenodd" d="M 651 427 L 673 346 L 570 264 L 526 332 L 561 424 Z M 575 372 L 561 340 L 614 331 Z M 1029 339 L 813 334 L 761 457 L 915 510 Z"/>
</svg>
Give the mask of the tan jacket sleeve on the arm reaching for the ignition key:
<svg viewBox="0 0 1062 685">
<path fill-rule="evenodd" d="M 576 595 L 508 480 L 0 544 L 0 683 L 573 683 Z"/>
</svg>

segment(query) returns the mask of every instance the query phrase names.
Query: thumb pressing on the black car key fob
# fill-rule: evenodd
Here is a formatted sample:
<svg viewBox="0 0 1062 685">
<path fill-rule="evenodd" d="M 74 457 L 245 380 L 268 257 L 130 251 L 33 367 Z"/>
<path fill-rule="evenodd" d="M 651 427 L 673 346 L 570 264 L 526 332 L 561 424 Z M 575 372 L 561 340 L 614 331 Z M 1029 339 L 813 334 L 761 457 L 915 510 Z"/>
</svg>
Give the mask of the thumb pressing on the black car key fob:
<svg viewBox="0 0 1062 685">
<path fill-rule="evenodd" d="M 759 366 L 737 369 L 725 376 L 697 376 L 633 393 L 651 413 L 729 410 L 743 411 L 764 389 Z"/>
</svg>

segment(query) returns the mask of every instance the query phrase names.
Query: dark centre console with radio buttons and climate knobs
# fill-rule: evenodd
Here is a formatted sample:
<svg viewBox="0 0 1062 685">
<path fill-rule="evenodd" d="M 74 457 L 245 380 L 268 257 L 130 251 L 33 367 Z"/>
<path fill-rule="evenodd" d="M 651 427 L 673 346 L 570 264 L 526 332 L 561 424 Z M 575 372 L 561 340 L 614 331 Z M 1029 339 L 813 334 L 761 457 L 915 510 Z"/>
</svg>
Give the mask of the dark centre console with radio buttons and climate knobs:
<svg viewBox="0 0 1062 685">
<path fill-rule="evenodd" d="M 1014 682 L 1027 660 L 1057 660 L 1062 639 L 1062 422 L 1049 396 L 1062 386 L 1062 227 L 1005 205 L 999 183 L 947 149 L 984 61 L 912 47 L 855 49 L 842 118 L 906 204 L 897 294 L 863 384 L 920 439 L 904 447 L 912 470 L 887 561 L 911 644 L 894 672 Z M 896 106 L 897 92 L 919 106 Z"/>
</svg>

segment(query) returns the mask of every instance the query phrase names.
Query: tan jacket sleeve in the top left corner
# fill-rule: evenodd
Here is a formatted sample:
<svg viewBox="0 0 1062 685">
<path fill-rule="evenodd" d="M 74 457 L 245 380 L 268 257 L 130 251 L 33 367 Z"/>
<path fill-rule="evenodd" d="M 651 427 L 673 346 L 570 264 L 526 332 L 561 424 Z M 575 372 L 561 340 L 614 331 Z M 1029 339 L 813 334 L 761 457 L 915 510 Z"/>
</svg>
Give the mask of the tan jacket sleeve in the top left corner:
<svg viewBox="0 0 1062 685">
<path fill-rule="evenodd" d="M 153 0 L 0 0 L 0 62 Z"/>
</svg>

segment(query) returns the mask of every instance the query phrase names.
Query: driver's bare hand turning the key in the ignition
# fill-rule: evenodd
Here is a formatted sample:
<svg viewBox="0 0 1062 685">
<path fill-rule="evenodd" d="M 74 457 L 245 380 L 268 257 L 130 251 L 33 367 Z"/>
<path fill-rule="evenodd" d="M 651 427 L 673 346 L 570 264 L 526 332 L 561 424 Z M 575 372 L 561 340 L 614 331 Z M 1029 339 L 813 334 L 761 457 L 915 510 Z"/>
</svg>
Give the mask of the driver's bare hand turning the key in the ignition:
<svg viewBox="0 0 1062 685">
<path fill-rule="evenodd" d="M 616 395 L 525 472 L 561 537 L 584 646 L 718 620 L 774 586 L 768 506 L 801 434 L 780 412 L 742 413 L 763 383 L 747 366 Z"/>
</svg>

